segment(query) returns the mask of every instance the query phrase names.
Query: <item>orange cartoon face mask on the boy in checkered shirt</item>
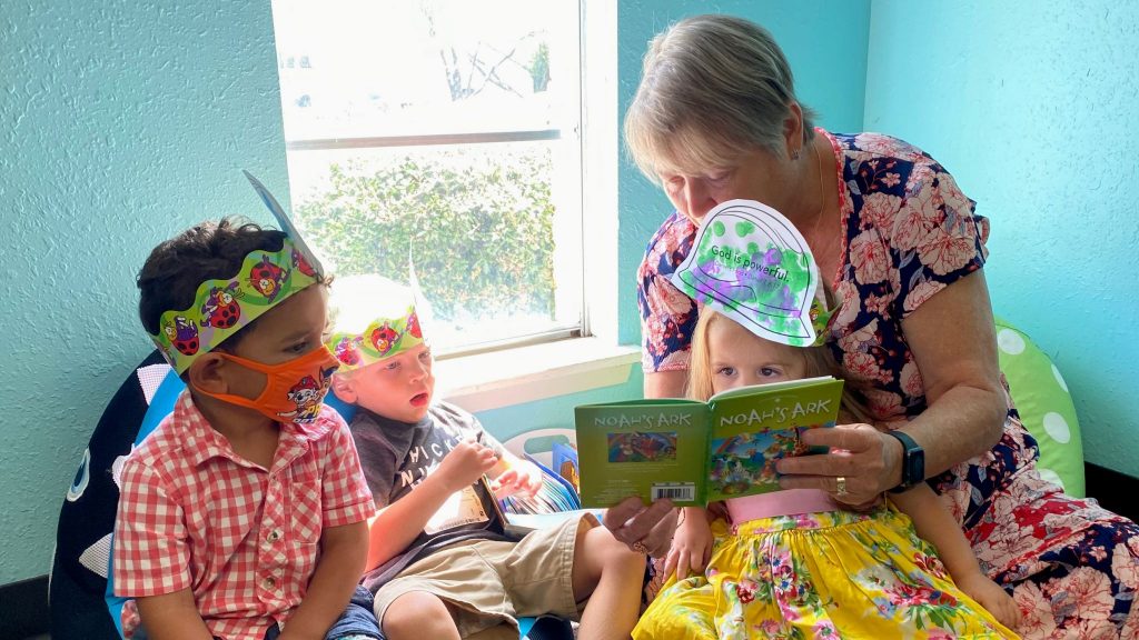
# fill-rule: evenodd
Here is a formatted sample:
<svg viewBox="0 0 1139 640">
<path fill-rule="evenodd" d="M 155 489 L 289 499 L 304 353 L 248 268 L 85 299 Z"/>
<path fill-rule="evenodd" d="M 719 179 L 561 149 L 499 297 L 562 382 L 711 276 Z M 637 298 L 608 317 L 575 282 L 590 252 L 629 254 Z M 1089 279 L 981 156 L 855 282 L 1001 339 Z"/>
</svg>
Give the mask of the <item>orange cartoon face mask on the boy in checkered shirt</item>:
<svg viewBox="0 0 1139 640">
<path fill-rule="evenodd" d="M 308 425 L 320 415 L 320 404 L 331 386 L 333 372 L 341 366 L 323 346 L 280 364 L 262 364 L 221 351 L 216 353 L 226 360 L 264 374 L 265 388 L 256 400 L 228 393 L 210 393 L 195 387 L 198 393 L 256 410 L 272 420 L 298 425 Z"/>
</svg>

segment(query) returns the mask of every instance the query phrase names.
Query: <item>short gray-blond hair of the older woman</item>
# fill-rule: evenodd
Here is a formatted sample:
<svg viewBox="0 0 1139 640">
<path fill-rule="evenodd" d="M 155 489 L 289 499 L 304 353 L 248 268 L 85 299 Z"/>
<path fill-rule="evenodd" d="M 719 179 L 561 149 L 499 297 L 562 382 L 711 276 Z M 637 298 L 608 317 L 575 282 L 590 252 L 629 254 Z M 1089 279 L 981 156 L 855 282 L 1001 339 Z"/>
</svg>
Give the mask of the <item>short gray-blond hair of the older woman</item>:
<svg viewBox="0 0 1139 640">
<path fill-rule="evenodd" d="M 762 26 L 744 18 L 686 18 L 649 42 L 625 114 L 625 143 L 641 172 L 727 169 L 756 147 L 782 154 L 795 97 L 790 66 Z M 814 112 L 803 109 L 803 141 Z"/>
</svg>

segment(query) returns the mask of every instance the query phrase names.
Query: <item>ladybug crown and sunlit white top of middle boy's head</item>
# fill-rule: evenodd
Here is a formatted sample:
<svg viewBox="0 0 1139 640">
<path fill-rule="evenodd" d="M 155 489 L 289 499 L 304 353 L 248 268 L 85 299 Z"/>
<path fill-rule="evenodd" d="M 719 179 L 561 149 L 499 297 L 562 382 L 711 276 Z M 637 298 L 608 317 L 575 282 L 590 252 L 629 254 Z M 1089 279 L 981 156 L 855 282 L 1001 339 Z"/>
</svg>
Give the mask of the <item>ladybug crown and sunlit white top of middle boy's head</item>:
<svg viewBox="0 0 1139 640">
<path fill-rule="evenodd" d="M 351 371 L 425 344 L 416 295 L 387 278 L 337 278 L 328 301 L 331 333 L 325 345 Z"/>
</svg>

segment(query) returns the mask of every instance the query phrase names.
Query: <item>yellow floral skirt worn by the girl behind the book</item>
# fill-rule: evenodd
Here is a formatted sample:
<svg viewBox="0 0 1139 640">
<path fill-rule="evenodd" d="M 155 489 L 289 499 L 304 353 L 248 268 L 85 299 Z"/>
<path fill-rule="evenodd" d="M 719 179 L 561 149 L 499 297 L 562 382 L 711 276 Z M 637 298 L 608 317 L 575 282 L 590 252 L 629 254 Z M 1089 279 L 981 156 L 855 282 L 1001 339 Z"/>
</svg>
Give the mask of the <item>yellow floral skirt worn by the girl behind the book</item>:
<svg viewBox="0 0 1139 640">
<path fill-rule="evenodd" d="M 634 640 L 1008 639 L 893 507 L 712 525 L 704 575 L 672 576 Z"/>
</svg>

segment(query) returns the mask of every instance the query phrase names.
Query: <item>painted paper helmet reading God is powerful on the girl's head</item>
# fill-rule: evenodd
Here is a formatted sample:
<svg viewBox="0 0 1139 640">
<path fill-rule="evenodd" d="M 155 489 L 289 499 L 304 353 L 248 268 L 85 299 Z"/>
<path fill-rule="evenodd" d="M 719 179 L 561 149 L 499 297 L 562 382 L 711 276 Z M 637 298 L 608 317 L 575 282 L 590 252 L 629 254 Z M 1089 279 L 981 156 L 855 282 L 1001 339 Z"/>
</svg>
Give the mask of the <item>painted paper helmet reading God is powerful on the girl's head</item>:
<svg viewBox="0 0 1139 640">
<path fill-rule="evenodd" d="M 710 211 L 670 279 L 761 338 L 790 346 L 826 339 L 833 310 L 811 248 L 789 220 L 762 203 L 729 200 Z"/>
</svg>

